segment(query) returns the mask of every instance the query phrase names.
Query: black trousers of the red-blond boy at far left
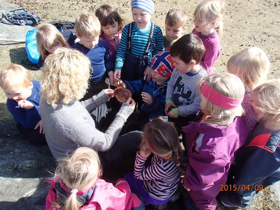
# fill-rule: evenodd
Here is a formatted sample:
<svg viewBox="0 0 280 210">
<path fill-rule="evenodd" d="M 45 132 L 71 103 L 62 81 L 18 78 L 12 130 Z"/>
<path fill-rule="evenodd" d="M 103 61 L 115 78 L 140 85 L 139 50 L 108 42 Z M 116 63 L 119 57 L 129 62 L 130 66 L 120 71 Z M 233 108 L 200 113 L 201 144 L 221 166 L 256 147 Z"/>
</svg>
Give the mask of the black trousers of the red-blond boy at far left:
<svg viewBox="0 0 280 210">
<path fill-rule="evenodd" d="M 25 136 L 25 138 L 31 143 L 35 145 L 45 145 L 47 144 L 45 135 L 40 133 L 40 127 L 36 130 L 26 128 L 21 124 L 17 124 L 18 130 Z"/>
</svg>

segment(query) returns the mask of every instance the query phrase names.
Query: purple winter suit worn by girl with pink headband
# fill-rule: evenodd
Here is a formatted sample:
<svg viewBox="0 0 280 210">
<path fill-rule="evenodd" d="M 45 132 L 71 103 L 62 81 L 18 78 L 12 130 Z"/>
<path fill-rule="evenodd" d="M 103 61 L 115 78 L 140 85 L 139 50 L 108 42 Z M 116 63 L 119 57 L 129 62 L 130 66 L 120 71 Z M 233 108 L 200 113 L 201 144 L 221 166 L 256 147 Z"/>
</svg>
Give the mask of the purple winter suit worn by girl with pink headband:
<svg viewBox="0 0 280 210">
<path fill-rule="evenodd" d="M 236 117 L 229 126 L 192 122 L 182 129 L 189 157 L 184 185 L 196 208 L 215 209 L 215 197 L 226 183 L 234 154 L 246 141 L 247 126 Z"/>
</svg>

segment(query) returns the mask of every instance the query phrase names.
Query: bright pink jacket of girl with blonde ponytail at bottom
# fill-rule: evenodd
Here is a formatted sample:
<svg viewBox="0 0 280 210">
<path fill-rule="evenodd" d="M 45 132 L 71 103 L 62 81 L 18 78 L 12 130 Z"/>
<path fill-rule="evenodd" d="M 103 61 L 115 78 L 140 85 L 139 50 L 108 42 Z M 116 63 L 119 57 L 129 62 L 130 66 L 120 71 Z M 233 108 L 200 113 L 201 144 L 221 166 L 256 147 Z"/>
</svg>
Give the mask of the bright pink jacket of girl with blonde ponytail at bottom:
<svg viewBox="0 0 280 210">
<path fill-rule="evenodd" d="M 52 207 L 52 202 L 57 202 L 57 195 L 55 185 L 57 182 L 51 180 L 47 181 L 51 183 L 51 189 L 46 199 L 46 210 L 59 210 L 59 208 Z M 60 187 L 67 191 L 66 186 L 59 183 Z M 81 210 L 105 210 L 105 209 L 118 209 L 118 210 L 142 210 L 144 209 L 143 202 L 130 192 L 130 188 L 125 179 L 118 179 L 116 185 L 105 182 L 103 179 L 97 179 L 95 184 L 89 189 L 78 191 L 77 196 L 84 195 L 89 190 L 94 188 L 94 192 L 87 204 L 85 204 Z M 69 193 L 69 191 L 68 191 Z"/>
</svg>

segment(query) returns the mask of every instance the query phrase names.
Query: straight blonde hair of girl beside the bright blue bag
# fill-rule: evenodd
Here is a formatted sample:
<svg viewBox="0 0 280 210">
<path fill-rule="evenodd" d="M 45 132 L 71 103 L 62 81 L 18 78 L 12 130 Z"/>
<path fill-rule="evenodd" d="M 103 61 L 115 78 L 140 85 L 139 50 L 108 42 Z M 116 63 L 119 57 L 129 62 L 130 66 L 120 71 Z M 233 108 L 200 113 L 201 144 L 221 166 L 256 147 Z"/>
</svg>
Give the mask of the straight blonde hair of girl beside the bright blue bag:
<svg viewBox="0 0 280 210">
<path fill-rule="evenodd" d="M 63 47 L 70 48 L 63 35 L 55 28 L 54 25 L 49 23 L 40 24 L 36 31 L 36 41 L 38 51 L 43 59 L 47 57 L 47 49 L 52 48 L 58 44 Z"/>
</svg>

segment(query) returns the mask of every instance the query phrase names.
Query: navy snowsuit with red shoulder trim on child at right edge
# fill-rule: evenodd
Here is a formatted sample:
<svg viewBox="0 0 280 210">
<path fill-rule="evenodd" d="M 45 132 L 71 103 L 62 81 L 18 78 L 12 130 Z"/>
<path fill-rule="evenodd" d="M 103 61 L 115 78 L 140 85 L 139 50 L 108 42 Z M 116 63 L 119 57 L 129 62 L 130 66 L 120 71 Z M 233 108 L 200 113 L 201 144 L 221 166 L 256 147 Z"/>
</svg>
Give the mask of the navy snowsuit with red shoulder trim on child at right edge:
<svg viewBox="0 0 280 210">
<path fill-rule="evenodd" d="M 280 180 L 280 134 L 272 135 L 262 146 L 256 146 L 259 140 L 257 144 L 252 141 L 236 154 L 234 184 L 250 186 L 250 190 L 239 189 L 241 195 L 250 194 L 256 185 L 265 188 Z"/>
</svg>

